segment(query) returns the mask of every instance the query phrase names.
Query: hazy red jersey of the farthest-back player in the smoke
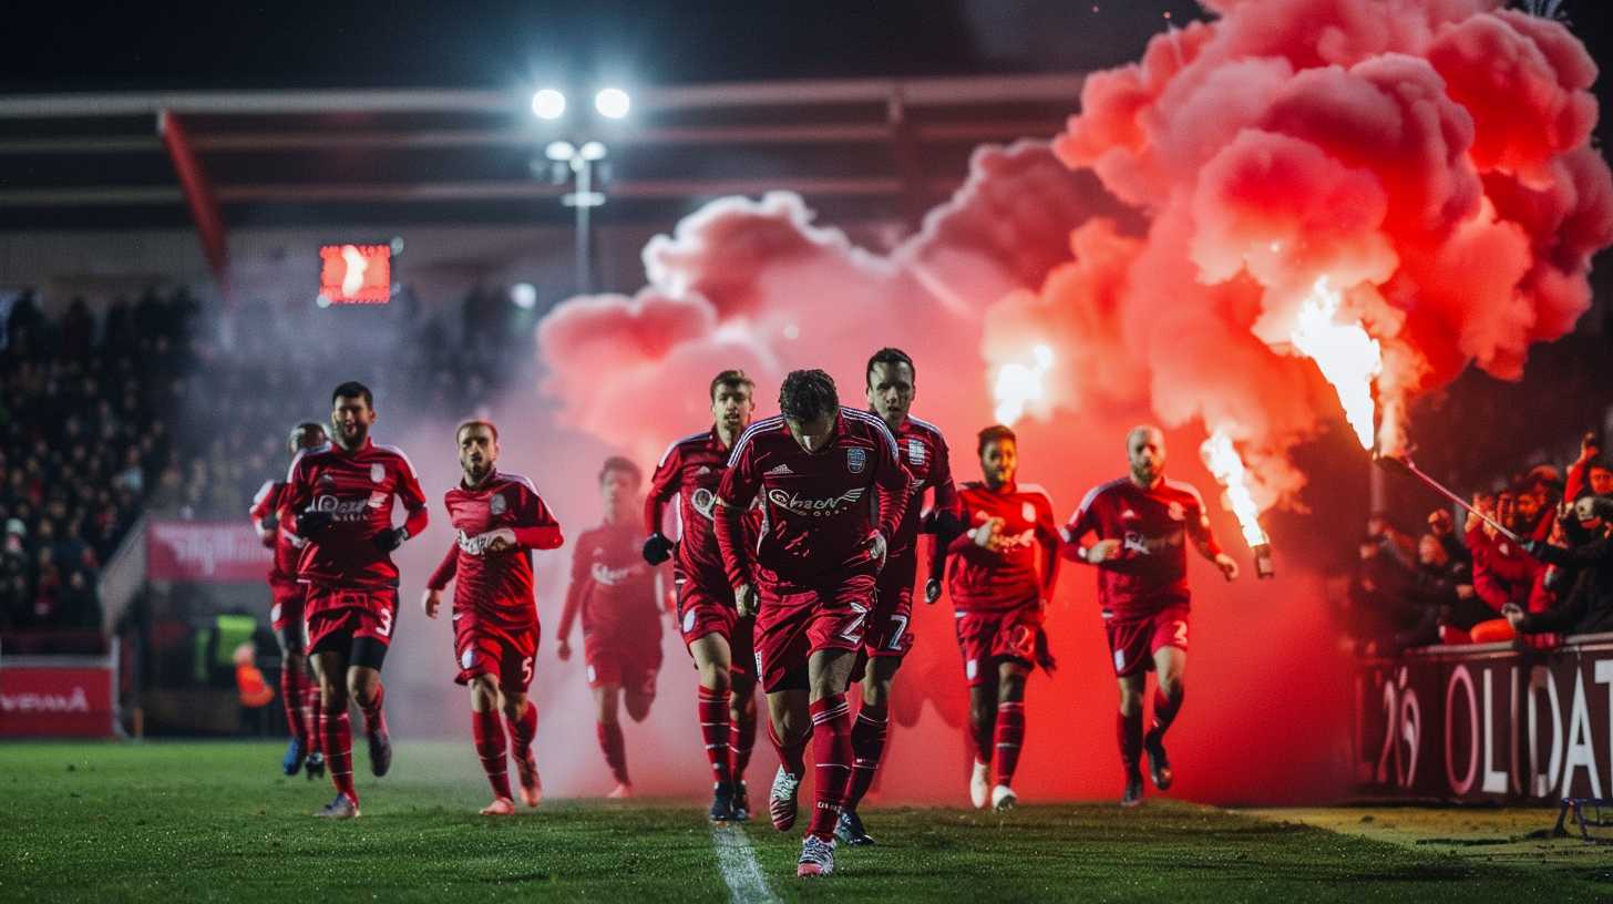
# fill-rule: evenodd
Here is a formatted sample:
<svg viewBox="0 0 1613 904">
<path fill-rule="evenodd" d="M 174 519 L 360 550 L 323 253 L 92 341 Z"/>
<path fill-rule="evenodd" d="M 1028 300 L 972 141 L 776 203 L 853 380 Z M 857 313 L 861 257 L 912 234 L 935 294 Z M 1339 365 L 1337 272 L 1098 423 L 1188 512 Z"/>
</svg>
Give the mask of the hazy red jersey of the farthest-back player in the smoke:
<svg viewBox="0 0 1613 904">
<path fill-rule="evenodd" d="M 571 547 L 571 588 L 560 613 L 558 638 L 571 634 L 571 622 L 579 613 L 584 634 L 660 636 L 655 568 L 644 560 L 642 549 L 644 538 L 631 521 L 582 531 Z"/>
</svg>

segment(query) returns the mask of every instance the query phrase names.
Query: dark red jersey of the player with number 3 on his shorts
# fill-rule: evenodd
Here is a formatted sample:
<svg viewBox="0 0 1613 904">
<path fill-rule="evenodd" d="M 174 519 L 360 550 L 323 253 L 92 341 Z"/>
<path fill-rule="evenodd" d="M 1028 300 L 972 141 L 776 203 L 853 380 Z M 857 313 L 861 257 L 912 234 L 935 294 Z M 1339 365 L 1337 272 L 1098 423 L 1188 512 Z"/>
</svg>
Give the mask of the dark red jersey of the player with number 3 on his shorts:
<svg viewBox="0 0 1613 904">
<path fill-rule="evenodd" d="M 408 510 L 410 536 L 426 529 L 426 494 L 415 465 L 394 446 L 369 439 L 356 452 L 326 442 L 292 460 L 281 512 L 329 512 L 331 525 L 311 538 L 297 559 L 297 580 L 345 589 L 395 588 L 398 567 L 381 552 L 376 536 L 392 529 L 392 497 Z"/>
</svg>

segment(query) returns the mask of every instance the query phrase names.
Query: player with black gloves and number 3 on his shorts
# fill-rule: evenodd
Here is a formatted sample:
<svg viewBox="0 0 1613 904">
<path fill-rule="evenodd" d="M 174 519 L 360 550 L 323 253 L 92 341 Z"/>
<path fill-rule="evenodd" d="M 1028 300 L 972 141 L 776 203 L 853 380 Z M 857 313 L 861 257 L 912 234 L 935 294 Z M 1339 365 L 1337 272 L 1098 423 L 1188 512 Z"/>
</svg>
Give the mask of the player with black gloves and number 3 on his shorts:
<svg viewBox="0 0 1613 904">
<path fill-rule="evenodd" d="M 297 580 L 305 584 L 303 618 L 308 655 L 324 705 L 324 755 L 336 799 L 316 815 L 358 815 L 353 789 L 353 730 L 348 699 L 365 714 L 369 770 L 386 775 L 392 741 L 382 715 L 386 688 L 381 663 L 392 642 L 398 610 L 398 568 L 392 550 L 426 529 L 426 496 L 415 465 L 395 446 L 369 439 L 374 396 L 363 383 L 344 383 L 331 394 L 334 442 L 292 460 L 281 515 L 295 518 L 305 541 Z M 392 500 L 408 518 L 392 525 Z"/>
</svg>

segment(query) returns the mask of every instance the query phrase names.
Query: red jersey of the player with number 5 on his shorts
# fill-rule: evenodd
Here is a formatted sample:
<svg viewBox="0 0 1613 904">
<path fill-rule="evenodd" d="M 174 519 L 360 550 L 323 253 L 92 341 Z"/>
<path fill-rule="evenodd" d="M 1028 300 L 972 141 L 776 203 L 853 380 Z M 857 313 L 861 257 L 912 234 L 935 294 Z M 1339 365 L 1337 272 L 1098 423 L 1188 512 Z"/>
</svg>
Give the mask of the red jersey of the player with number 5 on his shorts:
<svg viewBox="0 0 1613 904">
<path fill-rule="evenodd" d="M 463 483 L 442 496 L 455 528 L 453 546 L 426 586 L 440 591 L 453 586 L 453 612 L 474 612 L 476 618 L 500 628 L 537 625 L 532 597 L 532 550 L 558 549 L 560 521 L 544 505 L 532 481 L 494 471 L 481 486 Z M 510 528 L 516 549 L 490 552 L 476 538 Z"/>
</svg>

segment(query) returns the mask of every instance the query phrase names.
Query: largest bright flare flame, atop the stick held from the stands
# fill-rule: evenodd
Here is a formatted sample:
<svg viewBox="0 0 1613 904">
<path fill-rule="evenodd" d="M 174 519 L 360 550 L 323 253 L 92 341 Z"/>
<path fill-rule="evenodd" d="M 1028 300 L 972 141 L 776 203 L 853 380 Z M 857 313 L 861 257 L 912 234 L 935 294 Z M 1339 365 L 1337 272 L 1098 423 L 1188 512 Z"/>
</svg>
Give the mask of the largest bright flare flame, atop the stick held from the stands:
<svg viewBox="0 0 1613 904">
<path fill-rule="evenodd" d="M 1321 375 L 1339 392 L 1344 416 L 1355 428 L 1361 449 L 1373 447 L 1373 379 L 1384 371 L 1382 349 L 1366 334 L 1361 321 L 1334 323 L 1342 295 L 1318 276 L 1300 307 L 1298 323 L 1289 339 L 1316 362 Z"/>
</svg>

